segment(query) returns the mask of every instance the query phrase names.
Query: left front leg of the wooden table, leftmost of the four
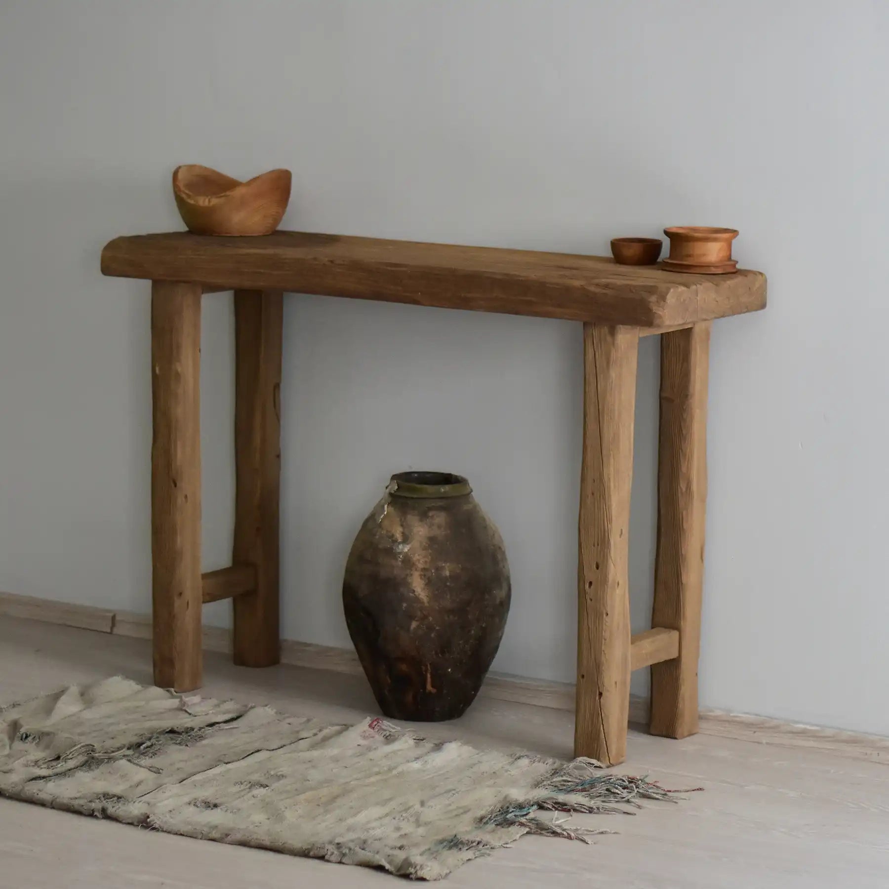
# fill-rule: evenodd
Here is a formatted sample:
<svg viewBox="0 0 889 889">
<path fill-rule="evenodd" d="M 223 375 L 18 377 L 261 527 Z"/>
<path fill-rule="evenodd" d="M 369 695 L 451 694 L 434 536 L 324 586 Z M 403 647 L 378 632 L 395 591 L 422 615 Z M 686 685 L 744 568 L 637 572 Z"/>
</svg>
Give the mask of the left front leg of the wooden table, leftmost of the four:
<svg viewBox="0 0 889 889">
<path fill-rule="evenodd" d="M 201 685 L 201 287 L 151 286 L 155 685 Z"/>
</svg>

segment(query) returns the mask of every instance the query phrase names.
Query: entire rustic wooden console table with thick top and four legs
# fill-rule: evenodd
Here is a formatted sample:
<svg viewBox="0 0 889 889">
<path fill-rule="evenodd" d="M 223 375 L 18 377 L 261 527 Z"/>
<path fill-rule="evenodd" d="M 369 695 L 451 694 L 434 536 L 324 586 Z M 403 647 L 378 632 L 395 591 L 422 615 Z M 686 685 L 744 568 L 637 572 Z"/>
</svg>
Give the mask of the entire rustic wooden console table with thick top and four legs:
<svg viewBox="0 0 889 889">
<path fill-rule="evenodd" d="M 157 685 L 201 685 L 201 606 L 234 602 L 236 663 L 278 661 L 283 292 L 582 322 L 583 447 L 574 752 L 626 756 L 629 675 L 652 668 L 651 731 L 698 725 L 710 322 L 765 308 L 765 276 L 597 256 L 276 232 L 118 237 L 103 274 L 152 282 L 152 566 Z M 201 297 L 235 292 L 232 565 L 201 573 Z M 640 336 L 661 334 L 653 629 L 629 630 L 629 494 Z"/>
</svg>

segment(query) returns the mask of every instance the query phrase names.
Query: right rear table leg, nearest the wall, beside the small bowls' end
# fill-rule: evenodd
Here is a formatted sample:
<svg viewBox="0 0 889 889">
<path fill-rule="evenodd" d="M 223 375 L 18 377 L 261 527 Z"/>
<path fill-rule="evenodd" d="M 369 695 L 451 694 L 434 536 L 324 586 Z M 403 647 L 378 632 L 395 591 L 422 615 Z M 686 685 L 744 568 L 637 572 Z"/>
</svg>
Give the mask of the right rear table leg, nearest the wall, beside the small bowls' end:
<svg viewBox="0 0 889 889">
<path fill-rule="evenodd" d="M 652 667 L 653 734 L 698 731 L 698 655 L 707 501 L 709 323 L 661 337 L 658 532 L 652 624 L 679 632 L 679 656 Z"/>
</svg>

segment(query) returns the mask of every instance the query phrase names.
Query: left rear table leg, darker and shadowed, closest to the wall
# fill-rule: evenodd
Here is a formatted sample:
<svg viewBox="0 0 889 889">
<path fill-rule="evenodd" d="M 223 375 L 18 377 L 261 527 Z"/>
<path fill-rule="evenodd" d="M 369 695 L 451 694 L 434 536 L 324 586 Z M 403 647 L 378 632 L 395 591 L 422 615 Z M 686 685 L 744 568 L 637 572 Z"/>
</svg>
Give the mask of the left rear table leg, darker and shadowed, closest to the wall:
<svg viewBox="0 0 889 889">
<path fill-rule="evenodd" d="M 280 292 L 235 292 L 235 545 L 232 562 L 256 568 L 256 591 L 234 600 L 235 663 L 280 660 L 278 517 L 281 476 Z"/>
</svg>

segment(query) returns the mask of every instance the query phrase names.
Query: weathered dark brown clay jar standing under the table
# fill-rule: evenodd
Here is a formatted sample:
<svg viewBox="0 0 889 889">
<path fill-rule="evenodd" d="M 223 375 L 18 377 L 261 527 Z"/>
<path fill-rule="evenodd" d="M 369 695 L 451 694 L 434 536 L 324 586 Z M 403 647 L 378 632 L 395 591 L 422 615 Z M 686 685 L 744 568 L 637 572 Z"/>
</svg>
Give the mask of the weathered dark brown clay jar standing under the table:
<svg viewBox="0 0 889 889">
<path fill-rule="evenodd" d="M 402 472 L 358 532 L 346 623 L 383 713 L 436 722 L 475 699 L 509 613 L 509 566 L 469 482 Z"/>
</svg>

